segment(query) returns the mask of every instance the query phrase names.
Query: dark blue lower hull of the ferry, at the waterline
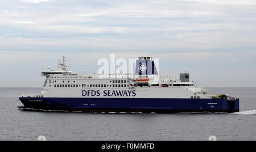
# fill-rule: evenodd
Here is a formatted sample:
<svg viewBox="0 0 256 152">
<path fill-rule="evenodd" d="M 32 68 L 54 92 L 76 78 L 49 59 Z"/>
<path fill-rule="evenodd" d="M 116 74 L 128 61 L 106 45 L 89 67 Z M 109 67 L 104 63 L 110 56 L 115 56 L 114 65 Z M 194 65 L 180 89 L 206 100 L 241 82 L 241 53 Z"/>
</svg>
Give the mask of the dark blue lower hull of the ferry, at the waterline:
<svg viewBox="0 0 256 152">
<path fill-rule="evenodd" d="M 239 99 L 19 98 L 24 108 L 82 112 L 239 112 Z"/>
</svg>

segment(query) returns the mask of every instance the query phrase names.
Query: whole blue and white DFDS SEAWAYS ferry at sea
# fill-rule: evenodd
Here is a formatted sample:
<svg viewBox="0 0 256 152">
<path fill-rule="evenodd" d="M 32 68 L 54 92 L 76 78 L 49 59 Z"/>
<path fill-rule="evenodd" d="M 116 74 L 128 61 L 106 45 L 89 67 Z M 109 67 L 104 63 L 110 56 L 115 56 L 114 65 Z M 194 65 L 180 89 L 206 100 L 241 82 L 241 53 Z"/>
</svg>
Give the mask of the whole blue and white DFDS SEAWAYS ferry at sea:
<svg viewBox="0 0 256 152">
<path fill-rule="evenodd" d="M 22 95 L 20 109 L 71 112 L 239 112 L 239 99 L 216 94 L 180 77 L 160 76 L 151 57 L 139 57 L 133 74 L 76 74 L 65 57 L 59 70 L 42 70 L 41 94 Z"/>
</svg>

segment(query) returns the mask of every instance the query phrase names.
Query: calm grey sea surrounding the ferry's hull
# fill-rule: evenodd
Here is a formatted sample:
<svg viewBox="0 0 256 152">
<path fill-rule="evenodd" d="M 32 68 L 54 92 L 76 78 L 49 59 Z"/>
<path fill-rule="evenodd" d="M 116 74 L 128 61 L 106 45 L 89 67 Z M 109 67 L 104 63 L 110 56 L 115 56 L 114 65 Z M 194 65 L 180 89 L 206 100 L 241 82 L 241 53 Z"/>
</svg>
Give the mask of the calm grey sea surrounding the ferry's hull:
<svg viewBox="0 0 256 152">
<path fill-rule="evenodd" d="M 240 98 L 241 112 L 118 114 L 31 112 L 21 94 L 41 88 L 0 88 L 0 140 L 255 140 L 256 88 L 209 88 Z"/>
</svg>

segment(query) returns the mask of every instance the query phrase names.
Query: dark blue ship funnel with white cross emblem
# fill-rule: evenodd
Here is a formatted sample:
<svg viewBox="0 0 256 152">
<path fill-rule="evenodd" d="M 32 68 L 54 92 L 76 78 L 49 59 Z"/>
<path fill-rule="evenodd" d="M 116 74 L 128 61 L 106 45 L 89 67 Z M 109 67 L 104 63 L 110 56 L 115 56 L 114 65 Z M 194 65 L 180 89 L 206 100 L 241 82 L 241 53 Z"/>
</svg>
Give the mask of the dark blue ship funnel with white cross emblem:
<svg viewBox="0 0 256 152">
<path fill-rule="evenodd" d="M 158 75 L 158 71 L 155 67 L 155 62 L 152 57 L 139 57 L 136 61 L 135 67 L 136 75 Z"/>
</svg>

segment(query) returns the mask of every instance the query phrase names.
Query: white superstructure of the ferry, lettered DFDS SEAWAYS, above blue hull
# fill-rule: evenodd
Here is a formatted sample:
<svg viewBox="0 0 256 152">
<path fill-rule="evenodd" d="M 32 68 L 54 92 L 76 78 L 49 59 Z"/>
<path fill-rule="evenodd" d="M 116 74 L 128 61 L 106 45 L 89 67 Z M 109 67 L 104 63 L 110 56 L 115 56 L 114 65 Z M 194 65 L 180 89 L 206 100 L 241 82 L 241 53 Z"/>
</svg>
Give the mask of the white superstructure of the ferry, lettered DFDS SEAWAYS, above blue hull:
<svg viewBox="0 0 256 152">
<path fill-rule="evenodd" d="M 152 61 L 151 58 L 150 61 Z M 48 68 L 41 71 L 46 80 L 42 94 L 37 96 L 46 98 L 135 98 L 135 92 L 136 98 L 209 99 L 216 97 L 214 92 L 189 82 L 188 73 L 181 73 L 180 78 L 158 74 L 75 74 L 68 71 L 65 57 L 62 62 L 59 62 L 58 67 L 59 70 Z M 141 69 L 144 70 L 143 68 Z"/>
</svg>

